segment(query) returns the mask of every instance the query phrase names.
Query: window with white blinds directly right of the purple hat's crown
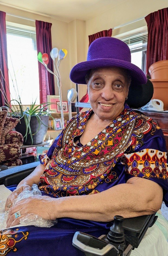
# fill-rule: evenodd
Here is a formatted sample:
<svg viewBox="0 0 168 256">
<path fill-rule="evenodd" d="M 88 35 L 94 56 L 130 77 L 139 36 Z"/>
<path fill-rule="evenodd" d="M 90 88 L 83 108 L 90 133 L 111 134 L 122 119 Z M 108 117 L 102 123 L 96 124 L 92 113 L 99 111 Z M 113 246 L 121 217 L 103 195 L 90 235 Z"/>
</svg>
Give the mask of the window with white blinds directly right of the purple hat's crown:
<svg viewBox="0 0 168 256">
<path fill-rule="evenodd" d="M 135 34 L 121 39 L 131 50 L 131 62 L 141 68 L 146 74 L 146 52 L 148 33 Z"/>
</svg>

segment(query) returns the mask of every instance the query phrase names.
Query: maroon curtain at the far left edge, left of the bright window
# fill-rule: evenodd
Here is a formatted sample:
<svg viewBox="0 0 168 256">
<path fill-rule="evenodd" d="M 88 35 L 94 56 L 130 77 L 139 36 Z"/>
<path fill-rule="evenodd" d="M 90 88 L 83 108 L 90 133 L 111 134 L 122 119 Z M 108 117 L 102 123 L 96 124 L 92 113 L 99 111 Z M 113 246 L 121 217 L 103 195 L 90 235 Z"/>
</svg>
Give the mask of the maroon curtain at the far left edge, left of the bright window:
<svg viewBox="0 0 168 256">
<path fill-rule="evenodd" d="M 7 98 L 8 102 L 10 101 L 10 92 L 9 92 L 9 77 L 8 77 L 8 67 L 7 67 L 7 30 L 6 30 L 6 13 L 0 11 L 0 68 L 2 71 L 2 74 L 0 72 L 0 88 L 5 95 L 5 98 Z M 4 92 L 5 91 L 5 92 Z M 5 99 L 3 94 L 0 92 L 0 106 L 5 105 Z"/>
</svg>

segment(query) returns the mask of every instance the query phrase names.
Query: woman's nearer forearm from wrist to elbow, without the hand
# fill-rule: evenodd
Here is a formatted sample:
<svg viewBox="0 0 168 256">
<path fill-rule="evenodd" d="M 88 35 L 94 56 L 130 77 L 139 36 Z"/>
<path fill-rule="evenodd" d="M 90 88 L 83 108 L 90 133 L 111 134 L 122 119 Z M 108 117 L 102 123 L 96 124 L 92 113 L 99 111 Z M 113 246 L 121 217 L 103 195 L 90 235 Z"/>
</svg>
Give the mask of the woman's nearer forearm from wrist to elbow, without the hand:
<svg viewBox="0 0 168 256">
<path fill-rule="evenodd" d="M 59 198 L 58 217 L 108 222 L 115 215 L 129 218 L 151 214 L 159 210 L 163 192 L 158 184 L 148 182 L 150 191 L 134 184 L 120 184 L 98 194 Z M 157 190 L 152 190 L 153 185 Z"/>
</svg>

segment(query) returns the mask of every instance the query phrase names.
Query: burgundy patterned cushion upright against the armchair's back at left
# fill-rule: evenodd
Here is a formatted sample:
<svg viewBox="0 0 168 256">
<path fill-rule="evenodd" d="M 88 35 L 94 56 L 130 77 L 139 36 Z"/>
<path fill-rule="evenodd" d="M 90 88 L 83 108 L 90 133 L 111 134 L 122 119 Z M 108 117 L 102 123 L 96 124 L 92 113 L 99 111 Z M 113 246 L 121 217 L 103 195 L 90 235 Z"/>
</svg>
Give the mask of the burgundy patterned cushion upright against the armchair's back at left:
<svg viewBox="0 0 168 256">
<path fill-rule="evenodd" d="M 5 123 L 4 123 L 4 128 L 2 130 L 2 135 L 1 135 L 1 145 L 5 144 L 5 138 L 13 128 L 18 124 L 19 119 L 18 118 L 12 118 L 12 117 L 6 117 Z"/>
</svg>

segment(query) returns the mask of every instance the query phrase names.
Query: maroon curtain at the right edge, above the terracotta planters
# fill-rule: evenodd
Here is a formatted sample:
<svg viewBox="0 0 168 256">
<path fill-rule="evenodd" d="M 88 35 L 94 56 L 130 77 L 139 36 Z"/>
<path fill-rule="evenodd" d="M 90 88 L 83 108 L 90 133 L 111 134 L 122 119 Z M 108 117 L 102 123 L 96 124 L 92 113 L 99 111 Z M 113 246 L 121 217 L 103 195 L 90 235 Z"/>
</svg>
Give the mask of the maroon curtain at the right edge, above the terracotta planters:
<svg viewBox="0 0 168 256">
<path fill-rule="evenodd" d="M 145 17 L 148 27 L 146 73 L 153 63 L 168 59 L 168 8 Z"/>
</svg>

